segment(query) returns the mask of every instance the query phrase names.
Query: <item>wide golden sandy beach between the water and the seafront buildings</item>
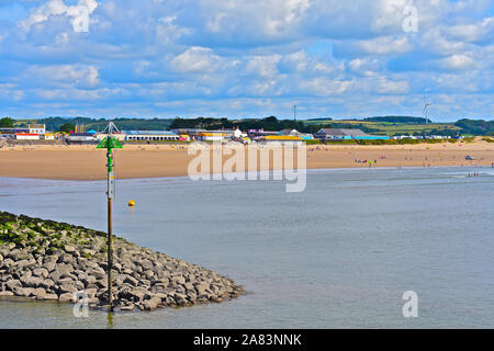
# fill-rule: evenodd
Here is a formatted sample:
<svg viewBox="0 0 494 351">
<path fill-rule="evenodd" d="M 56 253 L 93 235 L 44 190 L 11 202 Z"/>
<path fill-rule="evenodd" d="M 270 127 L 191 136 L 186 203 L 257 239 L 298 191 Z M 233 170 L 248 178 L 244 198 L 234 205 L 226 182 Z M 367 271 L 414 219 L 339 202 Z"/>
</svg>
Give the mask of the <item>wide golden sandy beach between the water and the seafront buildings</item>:
<svg viewBox="0 0 494 351">
<path fill-rule="evenodd" d="M 120 179 L 187 176 L 187 145 L 125 145 L 114 151 Z M 486 141 L 419 145 L 307 146 L 307 168 L 487 166 L 494 162 Z M 472 156 L 474 161 L 465 160 Z M 224 156 L 224 160 L 229 156 Z M 357 162 L 360 160 L 361 162 Z M 106 177 L 105 150 L 89 145 L 36 145 L 0 149 L 0 177 L 101 180 Z M 272 163 L 270 166 L 272 168 Z"/>
</svg>

